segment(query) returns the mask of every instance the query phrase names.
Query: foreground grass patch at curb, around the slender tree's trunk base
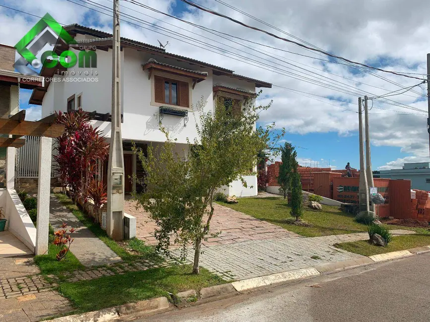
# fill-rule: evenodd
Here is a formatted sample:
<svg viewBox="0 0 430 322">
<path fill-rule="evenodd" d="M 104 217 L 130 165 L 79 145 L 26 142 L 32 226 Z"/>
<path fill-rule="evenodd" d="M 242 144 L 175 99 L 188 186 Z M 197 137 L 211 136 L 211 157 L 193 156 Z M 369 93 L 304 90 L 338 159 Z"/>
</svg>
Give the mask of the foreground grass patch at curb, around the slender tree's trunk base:
<svg viewBox="0 0 430 322">
<path fill-rule="evenodd" d="M 72 302 L 76 310 L 73 313 L 82 313 L 160 296 L 169 298 L 169 292 L 199 291 L 227 282 L 204 268 L 200 268 L 198 275 L 191 271 L 191 266 L 153 268 L 89 281 L 65 282 L 61 283 L 59 291 Z"/>
</svg>

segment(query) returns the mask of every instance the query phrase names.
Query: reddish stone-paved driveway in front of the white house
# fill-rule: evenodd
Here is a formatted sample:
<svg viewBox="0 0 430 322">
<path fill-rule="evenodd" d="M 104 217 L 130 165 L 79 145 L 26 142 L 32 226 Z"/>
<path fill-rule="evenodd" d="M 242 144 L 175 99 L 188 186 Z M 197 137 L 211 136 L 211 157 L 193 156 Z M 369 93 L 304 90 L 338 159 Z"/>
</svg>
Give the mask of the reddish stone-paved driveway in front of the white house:
<svg viewBox="0 0 430 322">
<path fill-rule="evenodd" d="M 136 237 L 149 245 L 155 245 L 154 230 L 157 228 L 155 221 L 142 209 L 136 210 L 136 203 L 132 200 L 125 201 L 125 213 L 133 215 L 137 219 Z M 231 208 L 214 204 L 214 216 L 211 220 L 211 231 L 220 232 L 217 237 L 208 237 L 202 241 L 202 245 L 226 245 L 251 240 L 265 240 L 276 238 L 299 237 L 298 234 L 285 230 L 282 227 L 267 221 L 256 219 L 250 215 L 237 212 Z"/>
</svg>

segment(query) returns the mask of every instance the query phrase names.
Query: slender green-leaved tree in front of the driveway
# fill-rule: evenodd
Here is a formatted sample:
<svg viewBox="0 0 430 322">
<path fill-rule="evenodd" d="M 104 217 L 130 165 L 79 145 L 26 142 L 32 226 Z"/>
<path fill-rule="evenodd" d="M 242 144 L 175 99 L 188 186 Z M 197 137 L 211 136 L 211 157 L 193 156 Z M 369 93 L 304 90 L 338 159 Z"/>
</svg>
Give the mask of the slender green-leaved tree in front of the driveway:
<svg viewBox="0 0 430 322">
<path fill-rule="evenodd" d="M 182 152 L 175 152 L 176 144 L 164 129 L 164 144 L 157 149 L 148 146 L 146 158 L 137 151 L 146 172 L 146 191 L 134 194 L 134 198 L 159 227 L 155 231 L 157 250 L 169 256 L 173 239 L 183 246 L 184 259 L 186 246 L 192 244 L 194 273 L 199 272 L 201 241 L 217 234 L 210 232 L 214 193 L 236 179 L 246 187 L 244 176 L 255 174 L 252 169 L 258 153 L 271 144 L 274 124 L 264 129 L 255 127 L 259 111 L 271 103 L 259 107 L 253 103 L 246 101 L 243 111 L 238 112 L 235 106 L 218 99 L 212 112 L 205 111 L 200 101 L 194 110 L 198 137 L 188 139 Z"/>
</svg>

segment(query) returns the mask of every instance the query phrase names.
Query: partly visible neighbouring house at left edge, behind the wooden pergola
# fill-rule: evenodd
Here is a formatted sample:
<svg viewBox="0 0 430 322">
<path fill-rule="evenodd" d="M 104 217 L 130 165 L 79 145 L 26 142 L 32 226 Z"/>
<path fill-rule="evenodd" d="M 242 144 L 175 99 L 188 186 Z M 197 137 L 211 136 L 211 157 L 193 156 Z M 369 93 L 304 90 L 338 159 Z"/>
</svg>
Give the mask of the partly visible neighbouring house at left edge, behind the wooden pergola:
<svg viewBox="0 0 430 322">
<path fill-rule="evenodd" d="M 0 117 L 9 118 L 18 112 L 18 83 L 21 88 L 34 89 L 42 86 L 42 78 L 34 77 L 33 81 L 23 78 L 27 76 L 15 72 L 15 48 L 0 44 Z M 37 80 L 39 78 L 39 80 Z M 0 188 L 4 188 L 6 166 L 6 148 L 0 148 Z"/>
</svg>

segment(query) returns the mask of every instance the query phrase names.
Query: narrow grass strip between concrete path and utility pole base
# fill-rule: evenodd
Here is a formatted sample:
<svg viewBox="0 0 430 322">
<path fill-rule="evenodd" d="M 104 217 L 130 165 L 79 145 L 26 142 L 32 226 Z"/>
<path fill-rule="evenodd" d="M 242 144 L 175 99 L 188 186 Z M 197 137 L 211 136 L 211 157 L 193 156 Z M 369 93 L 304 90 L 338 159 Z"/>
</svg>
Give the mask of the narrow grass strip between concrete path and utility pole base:
<svg viewBox="0 0 430 322">
<path fill-rule="evenodd" d="M 55 196 L 73 215 L 75 215 L 85 226 L 87 226 L 89 230 L 91 230 L 100 240 L 102 240 L 109 248 L 111 248 L 118 256 L 120 256 L 123 261 L 133 262 L 137 259 L 148 259 L 153 262 L 161 261 L 161 258 L 155 253 L 155 250 L 152 246 L 145 245 L 143 241 L 137 238 L 124 241 L 124 243 L 128 243 L 128 247 L 138 253 L 136 255 L 130 254 L 123 248 L 122 245 L 109 238 L 106 231 L 103 230 L 99 224 L 93 222 L 91 218 L 85 215 L 83 211 L 73 204 L 70 198 L 62 193 L 57 193 Z"/>
</svg>

